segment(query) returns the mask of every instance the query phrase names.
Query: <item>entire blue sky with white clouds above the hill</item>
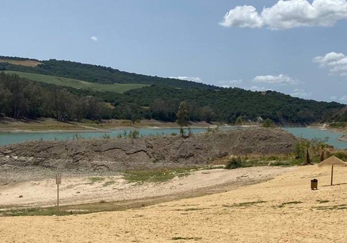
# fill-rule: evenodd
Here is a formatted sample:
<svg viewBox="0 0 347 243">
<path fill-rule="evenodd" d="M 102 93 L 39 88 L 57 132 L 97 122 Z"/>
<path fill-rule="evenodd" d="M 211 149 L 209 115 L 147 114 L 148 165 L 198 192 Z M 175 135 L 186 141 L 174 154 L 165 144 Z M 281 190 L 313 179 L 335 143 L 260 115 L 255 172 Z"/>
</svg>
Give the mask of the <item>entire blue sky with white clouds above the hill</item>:
<svg viewBox="0 0 347 243">
<path fill-rule="evenodd" d="M 0 0 L 0 55 L 347 103 L 346 0 Z"/>
</svg>

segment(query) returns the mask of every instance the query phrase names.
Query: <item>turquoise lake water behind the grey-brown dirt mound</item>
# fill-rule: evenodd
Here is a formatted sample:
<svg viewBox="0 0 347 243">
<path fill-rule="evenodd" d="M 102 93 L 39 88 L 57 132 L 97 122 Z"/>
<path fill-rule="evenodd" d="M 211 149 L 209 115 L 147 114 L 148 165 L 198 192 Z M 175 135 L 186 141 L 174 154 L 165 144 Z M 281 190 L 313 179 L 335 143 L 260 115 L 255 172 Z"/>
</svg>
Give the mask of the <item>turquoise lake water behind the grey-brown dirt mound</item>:
<svg viewBox="0 0 347 243">
<path fill-rule="evenodd" d="M 221 127 L 220 130 L 237 129 L 239 127 Z M 247 129 L 247 128 L 244 128 Z M 342 133 L 335 133 L 329 130 L 321 130 L 318 128 L 306 128 L 306 127 L 284 127 L 283 129 L 294 134 L 297 137 L 305 139 L 320 138 L 324 139 L 328 137 L 327 143 L 333 145 L 337 149 L 347 149 L 347 142 L 337 140 L 341 137 Z M 118 134 L 123 134 L 125 131 L 129 133 L 132 129 L 117 129 L 109 132 L 33 132 L 33 133 L 0 133 L 0 145 L 21 143 L 24 141 L 37 141 L 37 140 L 73 140 L 78 138 L 94 138 L 99 139 L 105 134 L 110 137 L 117 137 Z M 142 128 L 136 129 L 140 135 L 167 135 L 171 133 L 179 134 L 179 128 Z M 205 128 L 192 128 L 193 133 L 205 132 Z M 187 133 L 187 129 L 185 129 Z"/>
</svg>

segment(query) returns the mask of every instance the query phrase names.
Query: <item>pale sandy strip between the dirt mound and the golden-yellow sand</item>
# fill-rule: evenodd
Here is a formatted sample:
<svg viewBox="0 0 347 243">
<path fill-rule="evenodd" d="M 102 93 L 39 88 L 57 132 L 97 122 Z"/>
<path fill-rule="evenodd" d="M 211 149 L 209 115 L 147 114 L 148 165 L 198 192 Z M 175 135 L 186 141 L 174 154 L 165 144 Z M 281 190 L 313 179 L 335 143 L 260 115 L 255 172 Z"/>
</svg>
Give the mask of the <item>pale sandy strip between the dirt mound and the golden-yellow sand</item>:
<svg viewBox="0 0 347 243">
<path fill-rule="evenodd" d="M 212 194 L 235 189 L 241 185 L 268 180 L 295 168 L 250 167 L 234 170 L 210 169 L 193 171 L 188 176 L 164 183 L 127 182 L 123 176 L 68 176 L 60 186 L 60 204 L 82 204 L 100 201 L 143 200 L 160 202 L 194 195 Z M 56 184 L 53 178 L 26 182 L 12 182 L 0 186 L 0 207 L 8 206 L 54 206 Z M 22 197 L 19 198 L 19 196 Z M 167 201 L 164 200 L 163 201 Z"/>
</svg>

